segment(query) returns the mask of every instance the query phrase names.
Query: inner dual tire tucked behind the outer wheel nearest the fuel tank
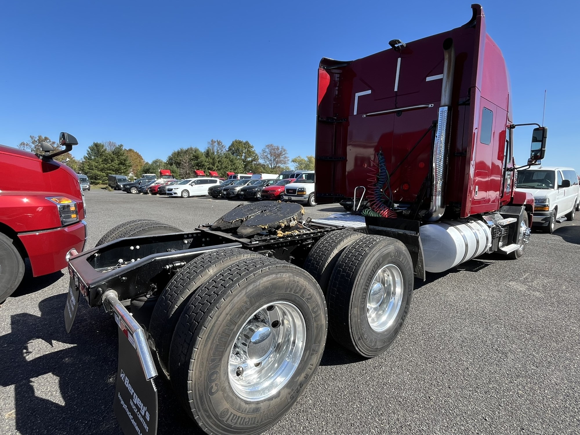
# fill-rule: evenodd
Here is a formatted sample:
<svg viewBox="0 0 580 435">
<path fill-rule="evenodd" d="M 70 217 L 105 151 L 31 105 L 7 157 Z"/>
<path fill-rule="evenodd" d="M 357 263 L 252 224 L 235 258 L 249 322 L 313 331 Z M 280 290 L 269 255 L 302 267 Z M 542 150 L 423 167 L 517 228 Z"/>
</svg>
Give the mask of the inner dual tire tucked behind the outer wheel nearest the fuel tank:
<svg viewBox="0 0 580 435">
<path fill-rule="evenodd" d="M 340 254 L 363 235 L 357 231 L 332 231 L 318 240 L 310 249 L 304 263 L 304 270 L 320 284 L 325 295 L 328 293 L 328 281 Z"/>
</svg>

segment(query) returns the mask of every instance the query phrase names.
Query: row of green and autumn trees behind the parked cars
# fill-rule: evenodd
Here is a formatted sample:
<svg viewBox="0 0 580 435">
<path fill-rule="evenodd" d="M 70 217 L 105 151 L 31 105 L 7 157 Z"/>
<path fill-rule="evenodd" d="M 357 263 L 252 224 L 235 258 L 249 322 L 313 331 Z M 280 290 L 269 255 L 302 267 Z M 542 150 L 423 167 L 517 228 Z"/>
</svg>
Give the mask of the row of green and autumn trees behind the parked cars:
<svg viewBox="0 0 580 435">
<path fill-rule="evenodd" d="M 18 147 L 40 153 L 40 143 L 44 140 L 53 144 L 56 150 L 61 148 L 46 136 L 30 136 L 30 139 L 30 142 L 22 142 Z M 198 147 L 179 148 L 166 160 L 155 159 L 151 162 L 146 162 L 138 151 L 125 149 L 123 144 L 93 142 L 81 161 L 70 153 L 57 156 L 56 160 L 66 162 L 75 172 L 84 173 L 92 183 L 106 183 L 108 174 L 139 177 L 142 173 L 159 173 L 160 169 L 170 169 L 174 176 L 180 178 L 189 178 L 200 169 L 205 173 L 216 171 L 222 177 L 227 172 L 280 173 L 290 169 L 289 164 L 293 169 L 314 169 L 312 155 L 290 160 L 286 148 L 274 144 L 267 144 L 258 154 L 251 143 L 240 139 L 227 147 L 221 140 L 211 139 L 204 151 Z"/>
</svg>

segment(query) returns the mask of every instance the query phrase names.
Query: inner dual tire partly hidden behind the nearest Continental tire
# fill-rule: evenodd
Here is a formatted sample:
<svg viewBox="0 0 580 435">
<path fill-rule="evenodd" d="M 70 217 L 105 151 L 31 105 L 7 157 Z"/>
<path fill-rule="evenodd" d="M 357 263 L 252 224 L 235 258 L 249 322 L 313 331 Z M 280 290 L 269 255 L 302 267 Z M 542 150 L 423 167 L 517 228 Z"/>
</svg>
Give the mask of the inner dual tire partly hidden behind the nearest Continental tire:
<svg viewBox="0 0 580 435">
<path fill-rule="evenodd" d="M 189 299 L 195 298 L 200 286 L 220 271 L 241 259 L 255 257 L 264 258 L 263 255 L 247 249 L 219 249 L 191 260 L 171 278 L 153 309 L 149 324 L 149 334 L 153 339 L 158 360 L 168 378 L 171 338 Z"/>
</svg>

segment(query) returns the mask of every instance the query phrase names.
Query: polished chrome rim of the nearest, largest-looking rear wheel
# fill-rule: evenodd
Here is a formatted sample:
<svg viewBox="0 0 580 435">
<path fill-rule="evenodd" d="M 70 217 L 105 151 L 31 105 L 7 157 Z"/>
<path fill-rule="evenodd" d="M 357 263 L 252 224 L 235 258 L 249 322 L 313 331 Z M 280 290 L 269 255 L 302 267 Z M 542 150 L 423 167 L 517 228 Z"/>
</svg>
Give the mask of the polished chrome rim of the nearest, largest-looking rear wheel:
<svg viewBox="0 0 580 435">
<path fill-rule="evenodd" d="M 228 378 L 234 393 L 247 401 L 278 393 L 302 360 L 306 322 L 298 307 L 277 301 L 252 314 L 230 350 Z"/>
</svg>

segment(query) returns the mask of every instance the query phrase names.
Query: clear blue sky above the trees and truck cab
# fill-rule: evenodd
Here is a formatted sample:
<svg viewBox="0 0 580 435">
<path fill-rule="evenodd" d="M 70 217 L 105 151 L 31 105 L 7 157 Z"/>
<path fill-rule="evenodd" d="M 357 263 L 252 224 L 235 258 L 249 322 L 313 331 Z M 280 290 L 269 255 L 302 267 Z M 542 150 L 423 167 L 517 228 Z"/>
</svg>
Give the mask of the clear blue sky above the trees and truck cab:
<svg viewBox="0 0 580 435">
<path fill-rule="evenodd" d="M 544 164 L 580 171 L 579 2 L 483 3 L 514 121 L 549 127 Z M 470 2 L 3 2 L 0 143 L 73 133 L 151 161 L 209 139 L 314 154 L 321 57 L 357 59 L 461 26 Z M 531 128 L 516 129 L 516 161 Z"/>
</svg>

